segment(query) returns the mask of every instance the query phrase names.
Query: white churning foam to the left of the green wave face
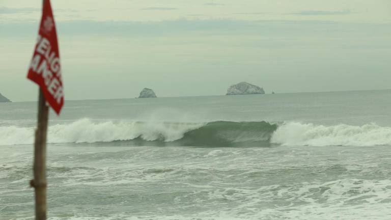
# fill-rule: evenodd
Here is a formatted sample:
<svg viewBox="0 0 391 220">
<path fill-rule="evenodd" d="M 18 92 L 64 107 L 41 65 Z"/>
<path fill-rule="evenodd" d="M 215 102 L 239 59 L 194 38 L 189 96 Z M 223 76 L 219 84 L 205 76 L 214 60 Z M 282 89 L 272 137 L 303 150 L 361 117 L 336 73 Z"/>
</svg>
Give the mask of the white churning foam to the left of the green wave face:
<svg viewBox="0 0 391 220">
<path fill-rule="evenodd" d="M 181 139 L 186 131 L 202 123 L 164 122 L 93 122 L 80 119 L 70 124 L 48 128 L 48 143 L 95 143 L 132 140 L 140 136 L 146 141 L 166 142 Z M 0 126 L 0 145 L 33 144 L 33 127 Z"/>
</svg>

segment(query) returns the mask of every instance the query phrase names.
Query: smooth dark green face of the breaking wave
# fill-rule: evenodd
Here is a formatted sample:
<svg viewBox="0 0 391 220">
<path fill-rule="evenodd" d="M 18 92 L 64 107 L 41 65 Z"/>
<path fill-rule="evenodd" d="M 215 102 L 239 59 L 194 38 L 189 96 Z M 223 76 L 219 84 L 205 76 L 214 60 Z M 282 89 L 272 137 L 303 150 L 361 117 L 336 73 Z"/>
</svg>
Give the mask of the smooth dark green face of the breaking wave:
<svg viewBox="0 0 391 220">
<path fill-rule="evenodd" d="M 277 124 L 271 124 L 265 121 L 215 121 L 184 132 L 183 137 L 175 141 L 167 141 L 163 136 L 156 140 L 147 141 L 143 135 L 140 135 L 132 140 L 114 141 L 111 144 L 115 146 L 159 147 L 270 147 L 270 139 L 276 129 Z M 109 143 L 96 144 L 107 145 Z"/>
</svg>

